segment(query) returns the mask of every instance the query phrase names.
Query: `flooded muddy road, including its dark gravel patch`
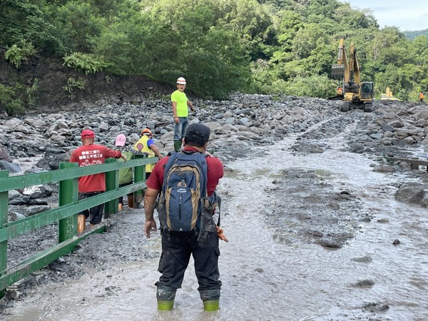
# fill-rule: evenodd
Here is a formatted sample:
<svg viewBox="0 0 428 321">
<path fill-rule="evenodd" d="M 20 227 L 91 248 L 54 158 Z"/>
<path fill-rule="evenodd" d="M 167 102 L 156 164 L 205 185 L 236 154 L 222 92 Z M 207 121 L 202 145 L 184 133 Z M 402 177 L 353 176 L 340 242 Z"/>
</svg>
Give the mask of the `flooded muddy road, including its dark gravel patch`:
<svg viewBox="0 0 428 321">
<path fill-rule="evenodd" d="M 203 312 L 192 263 L 173 311 L 156 310 L 160 237 L 144 238 L 143 210 L 126 210 L 35 273 L 0 316 L 427 320 L 427 210 L 394 200 L 405 174 L 374 172 L 375 158 L 348 151 L 364 117 L 343 114 L 226 165 L 218 312 Z"/>
</svg>

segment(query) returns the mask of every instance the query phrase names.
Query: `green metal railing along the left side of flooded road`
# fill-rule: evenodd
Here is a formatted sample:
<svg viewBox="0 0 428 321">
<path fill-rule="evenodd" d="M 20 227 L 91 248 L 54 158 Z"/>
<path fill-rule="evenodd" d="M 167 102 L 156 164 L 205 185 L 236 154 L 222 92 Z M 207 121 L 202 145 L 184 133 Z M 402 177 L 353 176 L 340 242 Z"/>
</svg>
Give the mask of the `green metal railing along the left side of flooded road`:
<svg viewBox="0 0 428 321">
<path fill-rule="evenodd" d="M 81 211 L 105 204 L 104 218 L 108 218 L 118 211 L 118 198 L 129 193 L 134 193 L 134 199 L 137 200 L 134 207 L 138 207 L 143 188 L 146 188 L 146 165 L 157 161 L 157 157 L 146 158 L 137 155 L 132 161 L 121 162 L 108 158 L 106 164 L 85 167 L 78 167 L 77 163 L 60 163 L 58 170 L 12 177 L 9 177 L 7 170 L 0 170 L 0 297 L 4 296 L 5 289 L 9 285 L 54 262 L 60 256 L 70 253 L 91 233 L 101 233 L 105 230 L 105 226 L 100 224 L 99 228 L 77 233 L 77 216 Z M 133 168 L 134 181 L 131 185 L 118 188 L 118 170 L 123 168 Z M 78 200 L 78 178 L 97 173 L 106 173 L 106 192 Z M 58 208 L 16 222 L 8 222 L 9 190 L 48 183 L 58 183 Z M 51 223 L 58 223 L 58 244 L 8 267 L 8 240 Z"/>
</svg>

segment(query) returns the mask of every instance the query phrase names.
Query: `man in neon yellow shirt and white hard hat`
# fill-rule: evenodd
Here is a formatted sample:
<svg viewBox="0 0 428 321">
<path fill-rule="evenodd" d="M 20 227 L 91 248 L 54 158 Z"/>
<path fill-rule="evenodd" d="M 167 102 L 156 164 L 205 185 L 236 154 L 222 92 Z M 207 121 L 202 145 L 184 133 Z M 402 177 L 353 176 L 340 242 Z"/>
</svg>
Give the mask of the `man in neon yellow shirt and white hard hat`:
<svg viewBox="0 0 428 321">
<path fill-rule="evenodd" d="M 180 77 L 177 79 L 177 90 L 171 94 L 171 103 L 173 105 L 173 116 L 175 122 L 174 130 L 174 151 L 180 151 L 181 143 L 185 136 L 185 131 L 188 128 L 188 114 L 189 110 L 195 111 L 193 104 L 185 96 L 185 78 Z"/>
</svg>

